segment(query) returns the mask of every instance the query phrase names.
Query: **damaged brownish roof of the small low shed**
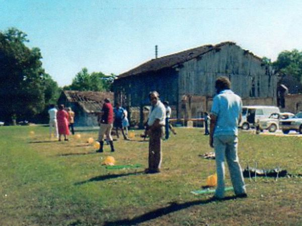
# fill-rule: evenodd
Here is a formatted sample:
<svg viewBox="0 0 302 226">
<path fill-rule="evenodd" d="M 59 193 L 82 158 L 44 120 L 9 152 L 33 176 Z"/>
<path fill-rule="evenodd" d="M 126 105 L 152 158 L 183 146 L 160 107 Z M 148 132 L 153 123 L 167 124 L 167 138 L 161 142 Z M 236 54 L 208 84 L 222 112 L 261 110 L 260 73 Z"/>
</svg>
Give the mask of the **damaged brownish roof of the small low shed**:
<svg viewBox="0 0 302 226">
<path fill-rule="evenodd" d="M 100 112 L 105 98 L 113 100 L 113 92 L 97 91 L 62 91 L 69 102 L 78 103 L 87 113 Z"/>
</svg>

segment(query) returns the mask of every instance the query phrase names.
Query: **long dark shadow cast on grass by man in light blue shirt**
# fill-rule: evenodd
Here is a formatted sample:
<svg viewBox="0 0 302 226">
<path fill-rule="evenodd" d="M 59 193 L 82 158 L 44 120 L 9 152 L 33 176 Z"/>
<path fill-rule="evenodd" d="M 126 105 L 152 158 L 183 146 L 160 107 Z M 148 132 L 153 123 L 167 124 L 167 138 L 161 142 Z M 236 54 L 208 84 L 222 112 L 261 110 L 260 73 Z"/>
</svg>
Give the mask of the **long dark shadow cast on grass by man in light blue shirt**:
<svg viewBox="0 0 302 226">
<path fill-rule="evenodd" d="M 225 200 L 231 200 L 231 199 L 236 199 L 236 196 L 230 196 L 230 197 L 225 197 L 220 201 L 225 201 Z M 190 201 L 190 202 L 184 202 L 184 203 L 176 203 L 173 202 L 171 203 L 169 206 L 163 207 L 163 208 L 159 208 L 147 213 L 144 213 L 140 216 L 136 216 L 132 219 L 122 219 L 122 220 L 116 220 L 116 221 L 108 221 L 105 222 L 103 225 L 106 226 L 113 226 L 113 225 L 136 225 L 151 219 L 155 219 L 164 215 L 167 215 L 169 213 L 175 212 L 175 211 L 179 211 L 181 209 L 185 209 L 188 208 L 190 206 L 193 205 L 204 205 L 210 202 L 214 202 L 217 200 L 213 200 L 213 199 L 207 199 L 207 200 L 196 200 L 196 201 Z"/>
</svg>

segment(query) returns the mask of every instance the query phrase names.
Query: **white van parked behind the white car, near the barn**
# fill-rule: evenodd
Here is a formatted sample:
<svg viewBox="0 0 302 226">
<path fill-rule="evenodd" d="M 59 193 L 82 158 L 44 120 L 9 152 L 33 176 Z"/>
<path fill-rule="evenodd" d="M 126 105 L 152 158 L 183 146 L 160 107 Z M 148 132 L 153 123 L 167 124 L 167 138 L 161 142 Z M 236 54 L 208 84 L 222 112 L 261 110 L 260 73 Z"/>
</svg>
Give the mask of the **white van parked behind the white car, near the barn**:
<svg viewBox="0 0 302 226">
<path fill-rule="evenodd" d="M 242 120 L 239 127 L 248 130 L 255 126 L 261 119 L 268 119 L 272 113 L 279 113 L 277 106 L 251 105 L 242 107 Z"/>
</svg>

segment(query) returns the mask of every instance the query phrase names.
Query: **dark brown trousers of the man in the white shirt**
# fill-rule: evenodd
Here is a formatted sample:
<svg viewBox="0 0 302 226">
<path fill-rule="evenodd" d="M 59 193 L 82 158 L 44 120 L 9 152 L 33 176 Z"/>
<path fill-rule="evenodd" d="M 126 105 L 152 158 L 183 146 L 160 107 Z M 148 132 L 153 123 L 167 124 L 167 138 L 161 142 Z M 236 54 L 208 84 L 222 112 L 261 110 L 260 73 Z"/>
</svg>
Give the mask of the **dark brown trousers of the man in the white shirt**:
<svg viewBox="0 0 302 226">
<path fill-rule="evenodd" d="M 149 134 L 149 170 L 158 170 L 162 163 L 162 134 L 163 129 L 158 128 Z"/>
</svg>

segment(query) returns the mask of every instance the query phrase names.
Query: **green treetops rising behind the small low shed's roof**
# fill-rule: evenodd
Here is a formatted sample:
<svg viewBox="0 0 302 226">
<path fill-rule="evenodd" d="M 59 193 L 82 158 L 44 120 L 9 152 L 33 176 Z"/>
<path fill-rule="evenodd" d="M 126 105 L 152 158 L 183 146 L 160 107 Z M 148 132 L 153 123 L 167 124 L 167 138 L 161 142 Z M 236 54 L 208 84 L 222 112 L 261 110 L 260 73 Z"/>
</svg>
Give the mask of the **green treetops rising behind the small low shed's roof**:
<svg viewBox="0 0 302 226">
<path fill-rule="evenodd" d="M 105 75 L 102 72 L 88 73 L 88 69 L 84 67 L 72 79 L 69 86 L 63 87 L 65 90 L 79 90 L 79 91 L 110 91 L 113 80 L 116 76 L 114 74 Z"/>
</svg>

